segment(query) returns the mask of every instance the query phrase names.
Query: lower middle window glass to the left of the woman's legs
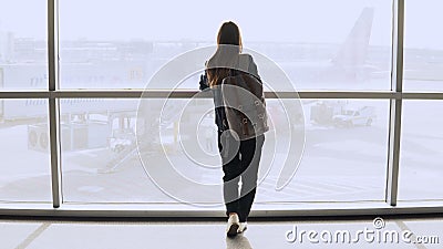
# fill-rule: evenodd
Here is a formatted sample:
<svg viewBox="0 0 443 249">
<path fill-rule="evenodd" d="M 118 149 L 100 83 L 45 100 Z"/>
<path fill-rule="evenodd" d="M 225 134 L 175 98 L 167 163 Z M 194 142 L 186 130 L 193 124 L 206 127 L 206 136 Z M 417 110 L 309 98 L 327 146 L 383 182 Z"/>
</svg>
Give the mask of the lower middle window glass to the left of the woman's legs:
<svg viewBox="0 0 443 249">
<path fill-rule="evenodd" d="M 220 188 L 197 191 L 174 178 L 178 173 L 203 184 L 220 181 L 212 108 L 209 98 L 62 100 L 64 201 L 182 204 L 190 194 L 193 201 L 219 204 Z M 195 156 L 198 149 L 204 152 Z M 178 188 L 177 196 L 168 195 L 171 188 Z"/>
</svg>

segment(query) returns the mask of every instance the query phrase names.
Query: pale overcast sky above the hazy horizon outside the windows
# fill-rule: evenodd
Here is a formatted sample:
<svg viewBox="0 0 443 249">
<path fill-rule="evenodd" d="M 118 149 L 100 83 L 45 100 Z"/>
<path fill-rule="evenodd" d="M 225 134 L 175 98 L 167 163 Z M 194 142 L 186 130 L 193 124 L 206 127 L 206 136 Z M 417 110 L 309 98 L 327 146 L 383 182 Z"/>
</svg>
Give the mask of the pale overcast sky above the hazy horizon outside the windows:
<svg viewBox="0 0 443 249">
<path fill-rule="evenodd" d="M 45 0 L 0 0 L 0 30 L 45 38 Z M 441 0 L 406 0 L 406 45 L 443 49 Z M 62 40 L 215 41 L 220 23 L 236 21 L 244 41 L 344 41 L 364 7 L 374 8 L 371 44 L 390 45 L 389 0 L 60 0 Z"/>
</svg>

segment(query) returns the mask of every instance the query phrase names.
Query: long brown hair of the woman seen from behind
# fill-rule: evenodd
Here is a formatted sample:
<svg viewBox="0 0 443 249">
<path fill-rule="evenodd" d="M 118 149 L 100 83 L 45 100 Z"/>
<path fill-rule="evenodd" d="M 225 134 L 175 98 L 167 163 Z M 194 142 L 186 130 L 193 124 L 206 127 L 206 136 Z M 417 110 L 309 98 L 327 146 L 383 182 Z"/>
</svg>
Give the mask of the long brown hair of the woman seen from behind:
<svg viewBox="0 0 443 249">
<path fill-rule="evenodd" d="M 209 86 L 219 84 L 220 80 L 229 74 L 229 69 L 241 53 L 241 49 L 240 29 L 231 21 L 224 22 L 218 30 L 217 51 L 206 65 Z"/>
</svg>

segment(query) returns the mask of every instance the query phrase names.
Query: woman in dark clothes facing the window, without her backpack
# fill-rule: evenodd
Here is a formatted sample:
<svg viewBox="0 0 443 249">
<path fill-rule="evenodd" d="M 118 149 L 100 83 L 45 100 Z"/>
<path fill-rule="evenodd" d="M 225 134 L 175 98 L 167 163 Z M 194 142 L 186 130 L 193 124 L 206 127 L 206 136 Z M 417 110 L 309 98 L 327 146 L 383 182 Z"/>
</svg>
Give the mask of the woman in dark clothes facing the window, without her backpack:
<svg viewBox="0 0 443 249">
<path fill-rule="evenodd" d="M 260 81 L 257 65 L 250 54 L 241 53 L 240 31 L 234 22 L 222 24 L 217 35 L 217 50 L 206 62 L 200 90 L 216 89 L 227 76 L 250 74 Z M 246 66 L 245 66 L 246 65 Z M 261 81 L 260 81 L 261 82 Z M 228 237 L 244 232 L 257 188 L 258 166 L 265 135 L 239 141 L 233 136 L 226 118 L 225 107 L 214 94 L 215 122 L 218 126 L 218 149 L 224 172 L 224 200 L 228 224 Z M 241 185 L 239 183 L 241 181 Z"/>
</svg>

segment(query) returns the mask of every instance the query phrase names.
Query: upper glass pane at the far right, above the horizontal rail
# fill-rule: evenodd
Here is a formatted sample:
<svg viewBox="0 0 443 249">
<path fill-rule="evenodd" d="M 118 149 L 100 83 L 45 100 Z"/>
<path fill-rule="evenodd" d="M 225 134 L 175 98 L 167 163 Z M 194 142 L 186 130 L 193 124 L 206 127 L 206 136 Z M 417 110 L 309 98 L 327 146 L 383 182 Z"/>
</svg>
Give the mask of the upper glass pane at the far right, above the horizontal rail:
<svg viewBox="0 0 443 249">
<path fill-rule="evenodd" d="M 443 22 L 442 8 L 439 0 L 405 1 L 405 91 L 443 91 L 443 34 L 433 29 Z"/>
</svg>

